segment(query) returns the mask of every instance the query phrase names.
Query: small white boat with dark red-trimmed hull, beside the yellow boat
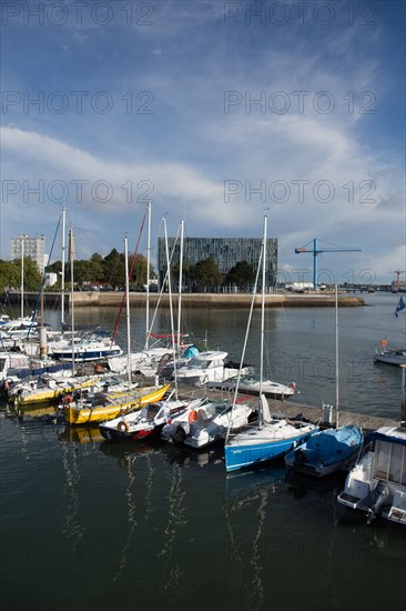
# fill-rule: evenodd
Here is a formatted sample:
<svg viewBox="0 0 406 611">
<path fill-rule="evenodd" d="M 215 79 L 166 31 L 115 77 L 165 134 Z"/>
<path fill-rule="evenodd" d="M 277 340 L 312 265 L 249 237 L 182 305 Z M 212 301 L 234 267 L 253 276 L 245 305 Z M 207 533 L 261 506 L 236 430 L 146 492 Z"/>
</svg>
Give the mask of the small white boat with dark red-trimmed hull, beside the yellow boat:
<svg viewBox="0 0 406 611">
<path fill-rule="evenodd" d="M 99 424 L 100 432 L 108 441 L 139 441 L 161 432 L 162 428 L 174 419 L 179 419 L 190 409 L 196 409 L 202 399 L 190 400 L 166 399 L 149 403 L 140 411 L 119 415 Z"/>
</svg>

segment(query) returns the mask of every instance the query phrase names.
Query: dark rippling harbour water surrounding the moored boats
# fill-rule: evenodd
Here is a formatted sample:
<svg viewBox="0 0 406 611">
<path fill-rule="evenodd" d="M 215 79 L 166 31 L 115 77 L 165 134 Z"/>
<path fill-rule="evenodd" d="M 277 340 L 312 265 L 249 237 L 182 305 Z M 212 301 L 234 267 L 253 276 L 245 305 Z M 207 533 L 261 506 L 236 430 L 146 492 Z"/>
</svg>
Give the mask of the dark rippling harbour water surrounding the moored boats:
<svg viewBox="0 0 406 611">
<path fill-rule="evenodd" d="M 382 339 L 405 343 L 397 301 L 375 293 L 338 311 L 343 411 L 399 419 L 400 368 L 373 362 Z M 57 311 L 47 315 L 58 323 Z M 141 304 L 131 314 L 140 343 L 144 315 Z M 183 309 L 182 330 L 240 360 L 247 315 Z M 256 365 L 260 315 L 245 357 Z M 116 312 L 83 309 L 75 319 L 112 329 Z M 169 310 L 154 328 L 170 330 Z M 266 312 L 265 373 L 296 383 L 298 412 L 335 404 L 335 332 L 334 308 Z M 118 339 L 124 348 L 125 335 Z M 278 461 L 231 477 L 221 445 L 111 444 L 98 428 L 70 428 L 45 408 L 17 415 L 3 405 L 0 423 L 7 611 L 382 611 L 404 600 L 406 531 L 339 505 L 344 474 L 316 481 Z"/>
</svg>

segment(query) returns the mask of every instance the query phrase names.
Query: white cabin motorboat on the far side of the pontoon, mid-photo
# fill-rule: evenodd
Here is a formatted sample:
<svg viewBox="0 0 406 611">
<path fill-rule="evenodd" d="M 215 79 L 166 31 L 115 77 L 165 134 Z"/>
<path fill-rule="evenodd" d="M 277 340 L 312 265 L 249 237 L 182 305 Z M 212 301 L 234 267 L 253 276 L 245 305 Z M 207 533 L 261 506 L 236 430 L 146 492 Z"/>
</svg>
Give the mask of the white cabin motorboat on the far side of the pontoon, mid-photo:
<svg viewBox="0 0 406 611">
<path fill-rule="evenodd" d="M 224 382 L 234 378 L 238 374 L 240 363 L 227 361 L 226 358 L 227 352 L 221 350 L 199 352 L 177 370 L 177 381 L 201 387 L 207 382 Z M 247 374 L 251 369 L 250 365 L 243 365 L 241 373 Z"/>
</svg>

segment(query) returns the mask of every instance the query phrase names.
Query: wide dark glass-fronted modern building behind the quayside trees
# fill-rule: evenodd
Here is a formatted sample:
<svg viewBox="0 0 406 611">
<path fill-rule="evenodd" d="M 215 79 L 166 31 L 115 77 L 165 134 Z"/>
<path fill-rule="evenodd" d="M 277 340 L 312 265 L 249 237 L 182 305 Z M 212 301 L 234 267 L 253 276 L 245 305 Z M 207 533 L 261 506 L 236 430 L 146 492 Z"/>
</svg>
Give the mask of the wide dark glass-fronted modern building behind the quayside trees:
<svg viewBox="0 0 406 611">
<path fill-rule="evenodd" d="M 181 244 L 175 238 L 168 238 L 172 266 L 180 261 Z M 225 276 L 238 261 L 246 261 L 255 270 L 258 266 L 262 248 L 262 238 L 184 238 L 183 264 L 195 266 L 213 257 L 220 271 Z M 165 239 L 158 239 L 158 273 L 162 287 L 166 273 Z M 266 288 L 273 289 L 277 273 L 277 239 L 266 241 Z"/>
</svg>

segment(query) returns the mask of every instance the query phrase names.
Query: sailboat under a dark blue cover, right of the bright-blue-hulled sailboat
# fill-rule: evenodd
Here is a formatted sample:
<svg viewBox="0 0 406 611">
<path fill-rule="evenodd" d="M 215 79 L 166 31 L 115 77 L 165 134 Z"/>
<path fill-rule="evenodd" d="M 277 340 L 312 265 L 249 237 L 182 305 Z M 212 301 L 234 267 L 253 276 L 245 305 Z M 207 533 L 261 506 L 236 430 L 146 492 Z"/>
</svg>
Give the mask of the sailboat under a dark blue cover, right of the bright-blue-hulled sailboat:
<svg viewBox="0 0 406 611">
<path fill-rule="evenodd" d="M 338 427 L 338 307 L 337 286 L 335 287 L 335 329 L 336 329 L 336 408 L 335 428 L 318 431 L 307 441 L 285 455 L 285 463 L 295 471 L 323 478 L 345 468 L 358 454 L 364 433 L 356 424 Z"/>
</svg>

